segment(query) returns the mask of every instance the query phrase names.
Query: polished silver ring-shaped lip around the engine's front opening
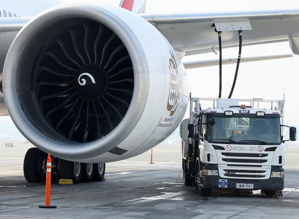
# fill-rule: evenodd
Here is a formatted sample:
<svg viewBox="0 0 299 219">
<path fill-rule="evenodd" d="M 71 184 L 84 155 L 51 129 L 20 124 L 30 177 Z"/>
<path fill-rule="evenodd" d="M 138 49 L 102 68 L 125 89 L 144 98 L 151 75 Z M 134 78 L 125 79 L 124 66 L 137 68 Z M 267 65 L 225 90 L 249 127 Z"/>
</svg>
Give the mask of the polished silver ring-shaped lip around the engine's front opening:
<svg viewBox="0 0 299 219">
<path fill-rule="evenodd" d="M 134 20 L 142 19 L 129 11 L 110 5 L 99 7 L 85 3 L 60 4 L 30 20 L 10 46 L 3 70 L 3 93 L 7 110 L 25 138 L 46 153 L 63 159 L 87 159 L 103 154 L 119 145 L 132 132 L 143 113 L 149 89 L 147 60 L 138 38 L 129 26 L 111 11 L 127 13 L 126 16 L 132 16 Z M 45 118 L 41 118 L 41 114 L 36 113 L 34 94 L 30 90 L 32 84 L 28 85 L 31 82 L 28 75 L 34 62 L 30 60 L 31 66 L 28 64 L 30 52 L 33 52 L 30 46 L 34 45 L 34 41 L 47 28 L 76 18 L 91 19 L 109 27 L 125 45 L 134 72 L 134 92 L 123 120 L 103 138 L 84 144 L 63 138 L 45 122 Z M 35 54 L 37 53 L 38 51 L 35 51 Z M 30 67 L 25 69 L 26 65 Z"/>
</svg>

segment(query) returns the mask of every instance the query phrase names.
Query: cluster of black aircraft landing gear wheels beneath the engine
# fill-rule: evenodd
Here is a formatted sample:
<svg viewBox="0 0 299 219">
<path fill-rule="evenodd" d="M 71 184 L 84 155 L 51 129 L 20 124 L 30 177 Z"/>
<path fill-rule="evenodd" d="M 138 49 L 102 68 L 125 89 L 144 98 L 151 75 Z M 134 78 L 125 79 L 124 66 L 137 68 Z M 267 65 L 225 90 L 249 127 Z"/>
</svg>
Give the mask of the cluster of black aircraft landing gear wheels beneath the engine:
<svg viewBox="0 0 299 219">
<path fill-rule="evenodd" d="M 47 153 L 36 147 L 27 151 L 23 165 L 24 177 L 27 182 L 46 180 L 47 157 Z M 104 174 L 105 163 L 80 163 L 52 157 L 52 181 L 71 179 L 74 184 L 102 181 Z"/>
</svg>

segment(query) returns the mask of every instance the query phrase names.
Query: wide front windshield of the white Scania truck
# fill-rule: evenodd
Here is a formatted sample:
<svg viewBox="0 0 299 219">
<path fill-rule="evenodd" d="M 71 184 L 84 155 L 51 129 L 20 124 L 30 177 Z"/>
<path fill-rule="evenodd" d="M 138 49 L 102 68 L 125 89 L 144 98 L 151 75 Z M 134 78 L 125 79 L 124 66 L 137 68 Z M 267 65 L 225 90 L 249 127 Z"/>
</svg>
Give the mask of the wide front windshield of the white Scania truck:
<svg viewBox="0 0 299 219">
<path fill-rule="evenodd" d="M 210 117 L 211 118 L 211 117 Z M 216 123 L 207 125 L 207 141 L 214 143 L 280 145 L 280 118 L 213 116 Z M 225 140 L 228 139 L 228 140 Z"/>
</svg>

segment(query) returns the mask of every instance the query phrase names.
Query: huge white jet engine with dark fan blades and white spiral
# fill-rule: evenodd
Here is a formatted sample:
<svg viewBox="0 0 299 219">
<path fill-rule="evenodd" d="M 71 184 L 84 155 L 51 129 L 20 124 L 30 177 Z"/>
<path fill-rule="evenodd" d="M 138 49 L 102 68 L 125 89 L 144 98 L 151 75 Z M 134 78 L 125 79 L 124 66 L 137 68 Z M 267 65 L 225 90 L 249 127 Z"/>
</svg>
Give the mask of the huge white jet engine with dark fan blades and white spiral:
<svg viewBox="0 0 299 219">
<path fill-rule="evenodd" d="M 181 60 L 154 26 L 120 7 L 82 3 L 52 7 L 22 28 L 4 63 L 3 93 L 33 145 L 81 162 L 150 149 L 188 103 Z"/>
</svg>

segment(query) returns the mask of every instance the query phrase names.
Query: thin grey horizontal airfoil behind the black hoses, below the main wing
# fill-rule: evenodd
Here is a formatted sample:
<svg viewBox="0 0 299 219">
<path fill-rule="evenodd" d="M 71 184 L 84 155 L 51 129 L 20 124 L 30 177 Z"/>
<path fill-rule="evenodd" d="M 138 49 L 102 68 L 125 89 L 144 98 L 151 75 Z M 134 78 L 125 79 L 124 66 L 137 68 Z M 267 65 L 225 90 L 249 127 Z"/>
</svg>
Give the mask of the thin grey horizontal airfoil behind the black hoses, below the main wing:
<svg viewBox="0 0 299 219">
<path fill-rule="evenodd" d="M 245 62 L 255 62 L 255 61 L 262 61 L 262 60 L 290 58 L 290 57 L 294 57 L 294 55 L 286 54 L 286 55 L 245 57 L 245 58 L 241 58 L 240 62 L 245 63 Z M 238 60 L 238 58 L 222 59 L 222 65 L 237 64 L 237 60 Z M 202 68 L 202 67 L 219 66 L 219 59 L 183 62 L 183 65 L 184 65 L 185 69 L 196 69 L 196 68 Z"/>
</svg>

